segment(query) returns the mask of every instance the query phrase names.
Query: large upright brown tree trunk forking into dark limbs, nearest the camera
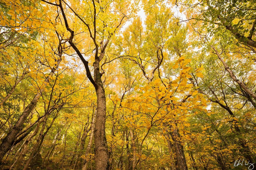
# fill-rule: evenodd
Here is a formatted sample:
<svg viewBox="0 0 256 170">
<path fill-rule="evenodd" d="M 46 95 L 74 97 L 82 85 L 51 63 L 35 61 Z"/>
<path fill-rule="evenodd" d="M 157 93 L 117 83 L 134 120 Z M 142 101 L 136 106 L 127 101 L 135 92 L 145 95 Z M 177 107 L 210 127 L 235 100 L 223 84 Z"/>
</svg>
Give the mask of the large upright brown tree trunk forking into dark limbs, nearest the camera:
<svg viewBox="0 0 256 170">
<path fill-rule="evenodd" d="M 69 6 L 67 3 L 65 3 L 67 6 Z M 93 1 L 94 5 L 94 36 L 91 35 L 91 38 L 94 41 L 95 44 L 95 61 L 93 63 L 94 67 L 94 79 L 91 76 L 90 68 L 88 66 L 88 61 L 85 60 L 77 46 L 73 43 L 74 38 L 74 31 L 69 27 L 69 24 L 67 22 L 67 18 L 65 15 L 65 11 L 62 6 L 62 1 L 59 0 L 59 7 L 61 9 L 61 13 L 65 22 L 65 26 L 67 31 L 70 32 L 69 37 L 69 44 L 72 46 L 72 48 L 75 50 L 75 52 L 78 54 L 79 58 L 83 62 L 86 70 L 86 76 L 90 80 L 90 82 L 93 84 L 96 95 L 97 95 L 97 116 L 95 121 L 95 133 L 94 133 L 94 143 L 95 143 L 95 164 L 96 164 L 96 170 L 107 170 L 109 166 L 109 159 L 108 159 L 108 150 L 107 150 L 107 139 L 106 139 L 106 133 L 105 133 L 105 124 L 106 124 L 106 96 L 105 96 L 105 90 L 103 87 L 103 83 L 101 80 L 101 76 L 104 73 L 100 73 L 100 67 L 99 63 L 104 57 L 106 46 L 109 43 L 109 39 L 107 39 L 104 43 L 104 38 L 102 38 L 101 46 L 99 50 L 99 45 L 97 44 L 96 40 L 96 8 L 95 3 Z M 71 8 L 70 8 L 71 9 Z M 74 13 L 75 11 L 71 9 Z M 75 13 L 76 14 L 76 13 Z M 81 18 L 80 18 L 81 19 Z M 89 27 L 89 25 L 87 25 Z M 99 55 L 100 51 L 100 55 Z"/>
</svg>

